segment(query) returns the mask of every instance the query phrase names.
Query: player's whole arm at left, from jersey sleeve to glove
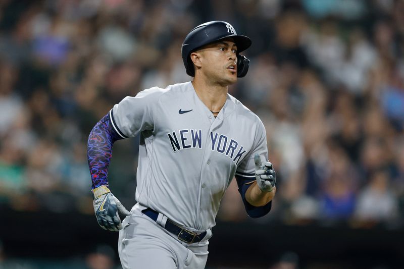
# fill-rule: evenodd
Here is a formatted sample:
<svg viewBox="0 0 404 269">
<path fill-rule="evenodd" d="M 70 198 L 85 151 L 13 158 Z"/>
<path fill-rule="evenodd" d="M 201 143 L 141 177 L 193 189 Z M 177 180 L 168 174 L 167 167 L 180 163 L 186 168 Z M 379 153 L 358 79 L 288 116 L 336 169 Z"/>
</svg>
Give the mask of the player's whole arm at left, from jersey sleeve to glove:
<svg viewBox="0 0 404 269">
<path fill-rule="evenodd" d="M 111 193 L 108 168 L 115 141 L 135 136 L 139 131 L 153 130 L 153 104 L 161 95 L 157 88 L 125 97 L 91 130 L 87 143 L 88 166 L 91 174 L 94 211 L 98 224 L 110 231 L 122 229 L 118 211 L 130 214 Z"/>
</svg>

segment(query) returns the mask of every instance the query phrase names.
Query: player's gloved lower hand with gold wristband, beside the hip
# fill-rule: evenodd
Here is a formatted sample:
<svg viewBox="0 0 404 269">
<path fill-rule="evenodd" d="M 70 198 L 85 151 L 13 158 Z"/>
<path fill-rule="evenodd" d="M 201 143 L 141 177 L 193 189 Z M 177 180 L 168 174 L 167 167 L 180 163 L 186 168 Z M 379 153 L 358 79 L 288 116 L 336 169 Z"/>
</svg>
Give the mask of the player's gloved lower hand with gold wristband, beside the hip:
<svg viewBox="0 0 404 269">
<path fill-rule="evenodd" d="M 92 190 L 94 194 L 94 211 L 97 222 L 105 230 L 118 232 L 122 229 L 121 219 L 118 212 L 129 216 L 130 212 L 125 206 L 111 193 L 106 186 L 99 186 Z"/>
</svg>

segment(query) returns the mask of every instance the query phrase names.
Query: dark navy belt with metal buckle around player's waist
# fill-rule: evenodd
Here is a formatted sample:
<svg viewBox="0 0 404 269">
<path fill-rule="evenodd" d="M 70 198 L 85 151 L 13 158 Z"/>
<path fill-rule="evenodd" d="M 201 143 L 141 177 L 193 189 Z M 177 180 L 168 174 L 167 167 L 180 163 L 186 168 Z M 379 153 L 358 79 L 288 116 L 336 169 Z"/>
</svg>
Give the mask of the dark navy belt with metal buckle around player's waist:
<svg viewBox="0 0 404 269">
<path fill-rule="evenodd" d="M 157 212 L 156 210 L 153 210 L 151 208 L 146 208 L 146 209 L 142 210 L 142 213 L 144 213 L 147 217 L 149 217 L 150 219 L 157 222 L 157 218 L 159 217 L 159 212 Z M 164 228 L 167 231 L 169 231 L 170 233 L 175 234 L 179 240 L 186 242 L 188 244 L 200 242 L 206 236 L 206 231 L 201 234 L 195 234 L 194 232 L 182 229 L 181 227 L 177 226 L 169 219 L 167 219 L 167 222 L 166 222 L 166 225 L 164 226 Z"/>
</svg>

